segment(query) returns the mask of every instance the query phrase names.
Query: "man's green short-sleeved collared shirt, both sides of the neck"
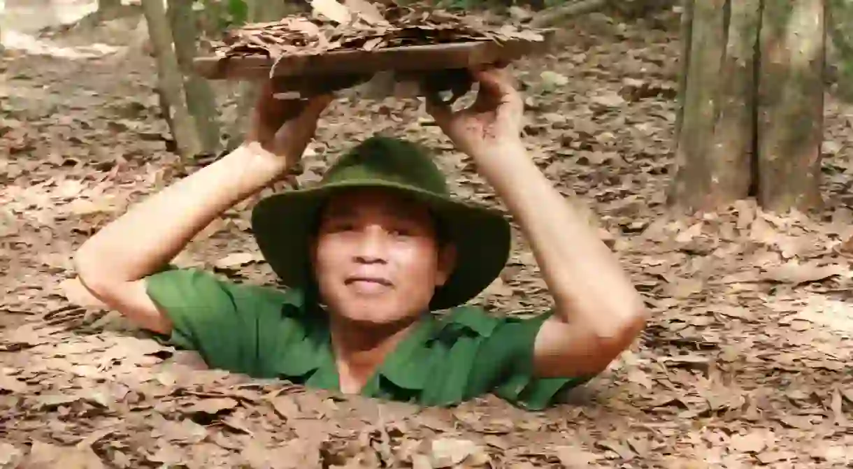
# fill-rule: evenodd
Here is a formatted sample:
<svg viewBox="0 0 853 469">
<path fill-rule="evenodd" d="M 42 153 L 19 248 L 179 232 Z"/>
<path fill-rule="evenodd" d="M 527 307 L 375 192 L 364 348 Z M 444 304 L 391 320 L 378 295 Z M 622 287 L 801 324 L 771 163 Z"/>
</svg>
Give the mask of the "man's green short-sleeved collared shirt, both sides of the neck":
<svg viewBox="0 0 853 469">
<path fill-rule="evenodd" d="M 339 391 L 328 316 L 298 289 L 237 284 L 196 269 L 147 278 L 148 296 L 171 318 L 170 342 L 211 368 Z M 533 346 L 549 314 L 493 316 L 461 306 L 425 315 L 386 356 L 361 394 L 450 406 L 493 393 L 521 408 L 548 407 L 587 378 L 536 378 Z"/>
</svg>

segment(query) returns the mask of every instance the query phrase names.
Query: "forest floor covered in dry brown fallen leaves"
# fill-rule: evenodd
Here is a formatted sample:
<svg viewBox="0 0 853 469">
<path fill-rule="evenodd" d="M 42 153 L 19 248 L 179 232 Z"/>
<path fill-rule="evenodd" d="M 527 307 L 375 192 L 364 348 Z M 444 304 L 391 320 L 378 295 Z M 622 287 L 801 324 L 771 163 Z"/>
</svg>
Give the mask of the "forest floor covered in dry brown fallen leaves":
<svg viewBox="0 0 853 469">
<path fill-rule="evenodd" d="M 853 463 L 853 107 L 827 97 L 822 217 L 747 200 L 669 217 L 677 28 L 601 15 L 566 25 L 558 53 L 515 67 L 526 141 L 556 187 L 601 218 L 653 319 L 606 373 L 547 411 L 493 397 L 415 408 L 201 369 L 81 294 L 74 249 L 182 175 L 165 151 L 153 61 L 91 47 L 119 47 L 133 27 L 53 39 L 89 44 L 90 58 L 7 49 L 0 62 L 0 467 Z M 377 131 L 438 148 L 457 194 L 501 206 L 417 101 L 336 101 L 302 182 Z M 177 263 L 273 283 L 247 233 L 251 206 L 212 223 Z M 544 310 L 543 281 L 516 240 L 477 301 Z"/>
</svg>

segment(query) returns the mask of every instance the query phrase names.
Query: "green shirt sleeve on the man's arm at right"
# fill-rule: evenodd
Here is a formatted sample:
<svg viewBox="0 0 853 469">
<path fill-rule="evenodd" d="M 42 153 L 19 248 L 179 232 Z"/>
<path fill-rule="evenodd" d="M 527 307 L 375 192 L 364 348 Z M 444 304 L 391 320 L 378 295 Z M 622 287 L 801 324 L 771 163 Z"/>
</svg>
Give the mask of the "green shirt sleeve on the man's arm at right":
<svg viewBox="0 0 853 469">
<path fill-rule="evenodd" d="M 591 377 L 536 378 L 533 376 L 533 350 L 537 334 L 553 311 L 520 319 L 505 317 L 484 339 L 474 359 L 472 378 L 488 382 L 497 397 L 530 410 L 554 404 L 561 391 L 588 381 Z"/>
</svg>

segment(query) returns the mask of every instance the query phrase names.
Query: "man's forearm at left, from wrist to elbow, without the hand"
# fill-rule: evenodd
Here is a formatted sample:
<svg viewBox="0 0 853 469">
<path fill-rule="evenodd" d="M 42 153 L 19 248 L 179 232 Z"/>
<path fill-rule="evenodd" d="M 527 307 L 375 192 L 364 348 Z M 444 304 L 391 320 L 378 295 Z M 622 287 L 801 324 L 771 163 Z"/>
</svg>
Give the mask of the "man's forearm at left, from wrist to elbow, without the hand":
<svg viewBox="0 0 853 469">
<path fill-rule="evenodd" d="M 92 236 L 75 255 L 83 281 L 136 281 L 154 273 L 223 211 L 269 184 L 281 164 L 255 145 L 154 194 Z"/>
</svg>

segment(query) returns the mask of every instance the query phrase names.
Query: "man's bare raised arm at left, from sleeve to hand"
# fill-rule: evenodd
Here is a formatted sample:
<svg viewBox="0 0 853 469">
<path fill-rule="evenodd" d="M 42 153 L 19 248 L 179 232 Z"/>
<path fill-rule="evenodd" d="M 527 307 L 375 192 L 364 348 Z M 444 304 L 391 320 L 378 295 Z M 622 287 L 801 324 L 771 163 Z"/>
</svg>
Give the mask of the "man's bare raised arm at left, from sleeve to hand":
<svg viewBox="0 0 853 469">
<path fill-rule="evenodd" d="M 171 321 L 148 298 L 143 279 L 175 258 L 223 211 L 298 161 L 330 101 L 330 96 L 279 101 L 267 84 L 241 147 L 131 207 L 80 246 L 74 264 L 81 283 L 137 326 L 171 333 Z"/>
</svg>

